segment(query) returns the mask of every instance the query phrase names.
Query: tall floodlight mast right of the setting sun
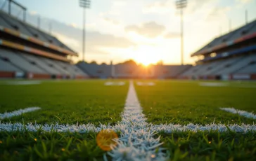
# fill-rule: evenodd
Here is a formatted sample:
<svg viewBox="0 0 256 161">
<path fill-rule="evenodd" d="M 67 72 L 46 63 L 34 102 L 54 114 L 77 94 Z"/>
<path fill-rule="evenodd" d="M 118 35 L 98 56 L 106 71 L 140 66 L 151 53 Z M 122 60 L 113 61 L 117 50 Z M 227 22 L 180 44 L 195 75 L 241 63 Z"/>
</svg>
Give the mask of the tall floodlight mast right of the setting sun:
<svg viewBox="0 0 256 161">
<path fill-rule="evenodd" d="M 184 64 L 184 42 L 183 42 L 183 8 L 187 6 L 187 0 L 177 0 L 176 8 L 181 11 L 181 65 Z"/>
</svg>

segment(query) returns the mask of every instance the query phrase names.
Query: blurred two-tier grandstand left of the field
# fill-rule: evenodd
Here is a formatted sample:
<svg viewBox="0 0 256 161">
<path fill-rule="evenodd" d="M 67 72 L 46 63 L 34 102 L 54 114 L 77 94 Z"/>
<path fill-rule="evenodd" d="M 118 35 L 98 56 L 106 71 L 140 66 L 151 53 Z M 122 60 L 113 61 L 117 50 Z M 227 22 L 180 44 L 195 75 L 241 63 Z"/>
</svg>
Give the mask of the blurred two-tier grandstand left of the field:
<svg viewBox="0 0 256 161">
<path fill-rule="evenodd" d="M 57 38 L 0 10 L 0 78 L 88 78 Z"/>
</svg>

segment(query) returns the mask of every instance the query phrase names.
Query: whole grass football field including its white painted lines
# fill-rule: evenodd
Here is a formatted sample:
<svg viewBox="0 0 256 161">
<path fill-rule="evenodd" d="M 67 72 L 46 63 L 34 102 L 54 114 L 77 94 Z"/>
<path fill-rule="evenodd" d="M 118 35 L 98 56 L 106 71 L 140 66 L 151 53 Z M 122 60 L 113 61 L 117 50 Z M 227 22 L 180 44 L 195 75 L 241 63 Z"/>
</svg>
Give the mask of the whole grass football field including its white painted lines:
<svg viewBox="0 0 256 161">
<path fill-rule="evenodd" d="M 1 80 L 0 160 L 256 160 L 256 83 Z"/>
</svg>

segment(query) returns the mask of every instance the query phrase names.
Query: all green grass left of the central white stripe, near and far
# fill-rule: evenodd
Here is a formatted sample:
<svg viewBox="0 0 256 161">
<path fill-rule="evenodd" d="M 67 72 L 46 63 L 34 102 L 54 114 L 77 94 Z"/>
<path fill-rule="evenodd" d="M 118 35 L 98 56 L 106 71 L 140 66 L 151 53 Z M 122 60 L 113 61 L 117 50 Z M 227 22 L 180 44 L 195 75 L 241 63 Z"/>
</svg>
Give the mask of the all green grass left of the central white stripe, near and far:
<svg viewBox="0 0 256 161">
<path fill-rule="evenodd" d="M 105 86 L 105 81 L 43 81 L 40 85 L 6 85 L 1 81 L 0 113 L 41 107 L 1 123 L 115 125 L 124 109 L 129 82 Z M 103 160 L 103 153 L 91 132 L 0 132 L 0 160 Z"/>
</svg>

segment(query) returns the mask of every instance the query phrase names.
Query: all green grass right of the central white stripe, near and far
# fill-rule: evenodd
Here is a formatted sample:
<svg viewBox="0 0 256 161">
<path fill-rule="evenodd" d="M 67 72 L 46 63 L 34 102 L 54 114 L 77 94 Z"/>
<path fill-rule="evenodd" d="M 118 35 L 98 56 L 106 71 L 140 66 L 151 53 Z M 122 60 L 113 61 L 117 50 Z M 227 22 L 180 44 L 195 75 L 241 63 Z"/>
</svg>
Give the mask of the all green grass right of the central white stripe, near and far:
<svg viewBox="0 0 256 161">
<path fill-rule="evenodd" d="M 256 83 L 226 82 L 228 87 L 203 87 L 199 81 L 145 80 L 155 86 L 136 85 L 148 123 L 248 123 L 255 120 L 219 107 L 256 111 Z M 214 83 L 223 83 L 214 81 Z M 252 88 L 250 88 L 252 87 Z M 169 160 L 256 160 L 256 134 L 233 132 L 160 132 Z"/>
</svg>

